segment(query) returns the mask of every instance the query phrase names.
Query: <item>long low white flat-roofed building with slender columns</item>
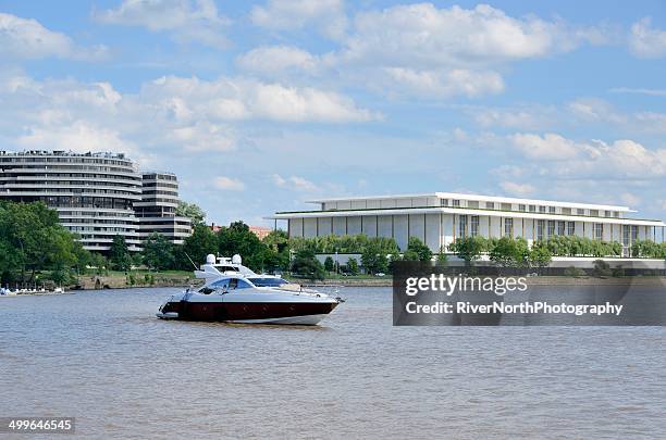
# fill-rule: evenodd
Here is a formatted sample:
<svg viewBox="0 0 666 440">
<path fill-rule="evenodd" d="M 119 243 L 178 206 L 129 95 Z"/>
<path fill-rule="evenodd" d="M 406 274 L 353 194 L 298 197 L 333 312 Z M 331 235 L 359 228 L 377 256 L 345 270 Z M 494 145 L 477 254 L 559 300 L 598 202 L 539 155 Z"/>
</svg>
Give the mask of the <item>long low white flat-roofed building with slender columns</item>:
<svg viewBox="0 0 666 440">
<path fill-rule="evenodd" d="M 458 237 L 522 237 L 531 246 L 554 236 L 622 243 L 664 240 L 664 222 L 631 218 L 627 206 L 434 192 L 314 200 L 318 210 L 278 212 L 289 237 L 357 235 L 394 238 L 402 250 L 418 237 L 433 251 Z"/>
</svg>

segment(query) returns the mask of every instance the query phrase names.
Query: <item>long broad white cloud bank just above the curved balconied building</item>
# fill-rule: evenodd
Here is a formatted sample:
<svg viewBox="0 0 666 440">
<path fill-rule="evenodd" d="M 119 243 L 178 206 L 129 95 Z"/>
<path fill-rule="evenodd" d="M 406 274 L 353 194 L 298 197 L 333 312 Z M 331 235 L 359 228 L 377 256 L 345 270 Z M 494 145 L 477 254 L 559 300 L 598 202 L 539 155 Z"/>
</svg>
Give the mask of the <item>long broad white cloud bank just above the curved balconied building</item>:
<svg viewBox="0 0 666 440">
<path fill-rule="evenodd" d="M 156 158 L 172 160 L 170 154 L 254 149 L 252 128 L 242 121 L 346 123 L 375 117 L 337 93 L 224 77 L 162 77 L 137 93 L 122 93 L 108 83 L 35 80 L 0 72 L 0 102 L 7 149 L 114 150 L 143 166 Z"/>
</svg>

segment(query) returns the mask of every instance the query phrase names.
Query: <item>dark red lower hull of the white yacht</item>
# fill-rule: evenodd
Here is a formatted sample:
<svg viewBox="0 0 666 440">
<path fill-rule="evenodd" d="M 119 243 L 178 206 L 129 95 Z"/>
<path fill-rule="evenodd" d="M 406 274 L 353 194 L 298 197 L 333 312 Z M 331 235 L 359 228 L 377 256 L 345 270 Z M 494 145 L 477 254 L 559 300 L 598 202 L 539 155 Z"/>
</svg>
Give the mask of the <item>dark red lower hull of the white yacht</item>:
<svg viewBox="0 0 666 440">
<path fill-rule="evenodd" d="M 274 319 L 329 314 L 336 303 L 170 302 L 162 313 L 176 312 L 184 320 Z"/>
</svg>

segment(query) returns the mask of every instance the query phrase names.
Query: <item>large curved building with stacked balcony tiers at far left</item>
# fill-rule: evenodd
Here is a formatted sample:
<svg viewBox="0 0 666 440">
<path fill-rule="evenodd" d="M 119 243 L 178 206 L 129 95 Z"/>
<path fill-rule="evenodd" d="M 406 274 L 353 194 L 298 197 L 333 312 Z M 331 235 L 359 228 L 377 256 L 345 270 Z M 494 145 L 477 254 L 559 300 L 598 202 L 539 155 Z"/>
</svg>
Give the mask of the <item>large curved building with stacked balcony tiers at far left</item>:
<svg viewBox="0 0 666 440">
<path fill-rule="evenodd" d="M 136 164 L 122 153 L 0 151 L 0 200 L 45 202 L 90 251 L 108 251 L 116 235 L 139 251 L 141 235 L 150 230 L 140 219 L 141 204 L 150 196 Z"/>
</svg>

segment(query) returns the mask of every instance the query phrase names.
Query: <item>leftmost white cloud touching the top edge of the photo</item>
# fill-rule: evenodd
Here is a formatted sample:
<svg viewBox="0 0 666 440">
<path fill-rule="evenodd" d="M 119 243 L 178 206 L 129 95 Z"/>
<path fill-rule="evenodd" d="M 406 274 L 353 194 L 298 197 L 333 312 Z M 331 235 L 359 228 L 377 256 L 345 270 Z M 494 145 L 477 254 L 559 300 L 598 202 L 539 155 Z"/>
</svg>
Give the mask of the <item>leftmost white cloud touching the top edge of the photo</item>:
<svg viewBox="0 0 666 440">
<path fill-rule="evenodd" d="M 124 0 L 116 9 L 96 12 L 94 16 L 101 23 L 170 32 L 178 42 L 213 48 L 229 45 L 224 30 L 231 22 L 218 13 L 212 0 Z"/>
</svg>

